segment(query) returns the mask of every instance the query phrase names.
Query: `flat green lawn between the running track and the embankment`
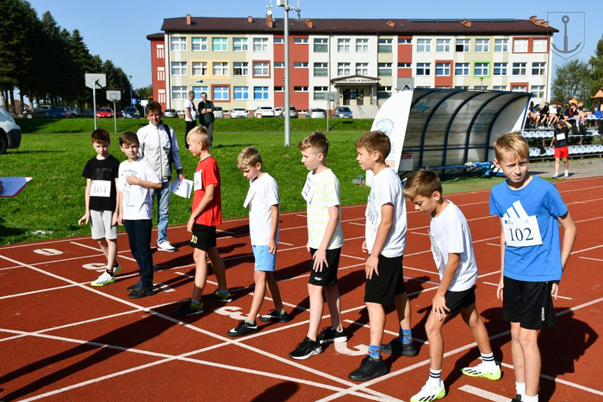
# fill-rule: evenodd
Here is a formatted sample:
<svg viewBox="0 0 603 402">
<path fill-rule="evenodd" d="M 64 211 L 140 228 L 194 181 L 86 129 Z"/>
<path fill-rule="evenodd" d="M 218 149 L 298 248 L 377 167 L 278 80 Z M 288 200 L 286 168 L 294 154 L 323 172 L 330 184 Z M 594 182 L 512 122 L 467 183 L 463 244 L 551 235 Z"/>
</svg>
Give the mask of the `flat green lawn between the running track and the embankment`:
<svg viewBox="0 0 603 402">
<path fill-rule="evenodd" d="M 215 134 L 212 154 L 221 171 L 223 217 L 247 216 L 242 203 L 249 184 L 236 166 L 238 153 L 247 145 L 260 150 L 265 170 L 277 180 L 282 212 L 304 210 L 305 201 L 300 192 L 307 171 L 300 163 L 297 143 L 309 132 L 310 129 L 294 131 L 290 147 L 284 147 L 282 133 Z M 368 187 L 351 184 L 353 178 L 364 173 L 358 167 L 354 148 L 361 134 L 363 131 L 333 131 L 328 135 L 328 165 L 340 179 L 343 205 L 365 203 L 368 196 Z M 120 161 L 126 159 L 115 134 L 112 134 L 110 152 Z M 88 227 L 78 227 L 78 219 L 85 212 L 82 169 L 94 155 L 89 134 L 25 134 L 21 148 L 0 155 L 0 176 L 33 177 L 18 196 L 0 199 L 0 244 L 89 235 Z M 181 152 L 181 158 L 184 175 L 191 178 L 197 161 L 187 150 Z M 457 178 L 444 183 L 444 192 L 486 189 L 496 182 L 500 182 L 500 178 Z M 191 199 L 172 196 L 170 224 L 187 222 L 191 202 Z"/>
</svg>

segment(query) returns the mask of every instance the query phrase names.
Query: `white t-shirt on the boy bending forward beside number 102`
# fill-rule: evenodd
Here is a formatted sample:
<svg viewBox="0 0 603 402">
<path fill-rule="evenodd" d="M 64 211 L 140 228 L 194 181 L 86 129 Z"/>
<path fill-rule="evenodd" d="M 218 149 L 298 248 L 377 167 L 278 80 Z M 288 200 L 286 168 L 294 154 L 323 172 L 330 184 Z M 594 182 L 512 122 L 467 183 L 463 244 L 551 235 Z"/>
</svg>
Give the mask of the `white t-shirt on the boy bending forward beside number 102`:
<svg viewBox="0 0 603 402">
<path fill-rule="evenodd" d="M 449 201 L 437 217 L 431 218 L 429 229 L 431 252 L 439 271 L 439 279 L 444 277 L 448 254 L 457 253 L 460 254 L 460 262 L 448 290 L 462 292 L 470 289 L 477 280 L 477 262 L 465 215 Z"/>
</svg>

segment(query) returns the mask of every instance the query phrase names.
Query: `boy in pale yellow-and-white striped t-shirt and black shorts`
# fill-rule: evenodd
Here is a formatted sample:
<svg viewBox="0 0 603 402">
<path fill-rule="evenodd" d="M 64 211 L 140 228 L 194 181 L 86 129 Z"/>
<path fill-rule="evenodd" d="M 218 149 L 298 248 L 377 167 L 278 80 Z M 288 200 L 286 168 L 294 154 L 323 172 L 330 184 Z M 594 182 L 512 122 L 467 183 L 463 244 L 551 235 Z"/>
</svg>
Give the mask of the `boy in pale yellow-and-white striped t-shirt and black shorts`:
<svg viewBox="0 0 603 402">
<path fill-rule="evenodd" d="M 342 326 L 341 298 L 337 288 L 337 268 L 343 247 L 341 187 L 333 171 L 326 166 L 328 138 L 324 134 L 314 131 L 300 141 L 299 148 L 301 161 L 309 170 L 302 196 L 307 202 L 306 248 L 312 256 L 307 284 L 310 324 L 307 336 L 289 357 L 305 360 L 322 352 L 321 343 L 345 342 L 347 333 Z M 331 324 L 318 333 L 325 299 Z"/>
</svg>

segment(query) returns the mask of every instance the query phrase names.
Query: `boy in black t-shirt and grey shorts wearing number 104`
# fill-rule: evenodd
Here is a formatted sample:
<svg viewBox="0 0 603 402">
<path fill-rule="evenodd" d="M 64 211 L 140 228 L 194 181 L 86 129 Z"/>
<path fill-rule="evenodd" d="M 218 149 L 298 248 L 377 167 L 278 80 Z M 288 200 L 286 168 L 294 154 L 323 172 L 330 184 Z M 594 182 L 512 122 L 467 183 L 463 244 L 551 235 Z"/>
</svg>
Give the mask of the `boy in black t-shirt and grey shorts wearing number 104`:
<svg viewBox="0 0 603 402">
<path fill-rule="evenodd" d="M 92 238 L 99 242 L 107 257 L 106 270 L 92 286 L 105 286 L 115 282 L 122 267 L 117 264 L 117 178 L 119 161 L 109 154 L 110 138 L 107 130 L 92 131 L 92 147 L 96 157 L 87 161 L 82 176 L 86 178 L 86 213 L 78 224 L 90 222 Z"/>
</svg>

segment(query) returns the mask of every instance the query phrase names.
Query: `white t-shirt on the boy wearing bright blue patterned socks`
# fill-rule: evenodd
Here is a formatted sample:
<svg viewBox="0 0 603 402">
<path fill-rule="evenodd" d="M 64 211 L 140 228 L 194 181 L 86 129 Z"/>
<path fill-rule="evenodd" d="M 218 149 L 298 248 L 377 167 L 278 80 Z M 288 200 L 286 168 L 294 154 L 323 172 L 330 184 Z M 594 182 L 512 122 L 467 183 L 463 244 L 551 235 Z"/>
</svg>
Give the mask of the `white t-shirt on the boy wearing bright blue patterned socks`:
<svg viewBox="0 0 603 402">
<path fill-rule="evenodd" d="M 372 188 L 366 205 L 365 239 L 369 254 L 375 245 L 377 228 L 382 220 L 381 207 L 393 205 L 393 222 L 381 254 L 384 257 L 400 257 L 406 250 L 406 204 L 402 194 L 402 180 L 393 168 L 386 167 L 372 179 Z"/>
</svg>

